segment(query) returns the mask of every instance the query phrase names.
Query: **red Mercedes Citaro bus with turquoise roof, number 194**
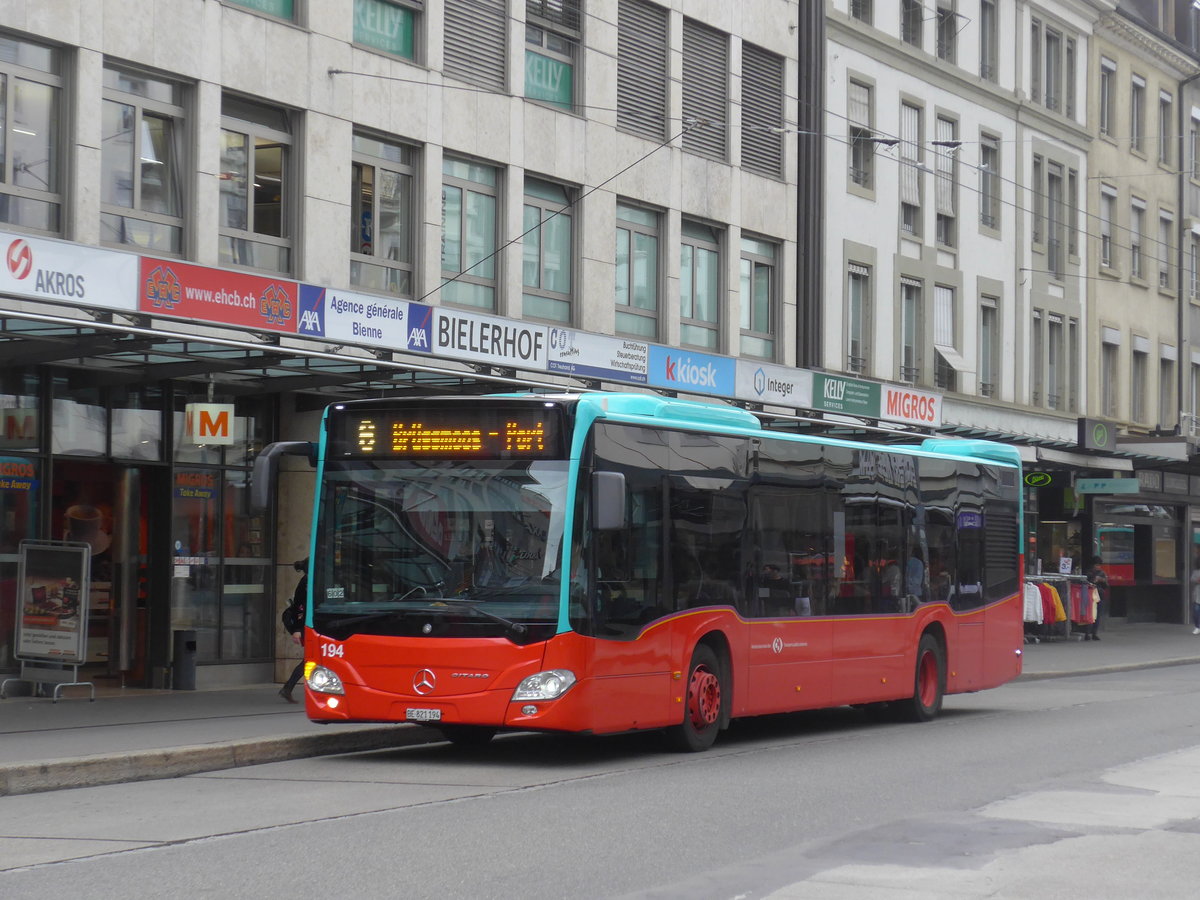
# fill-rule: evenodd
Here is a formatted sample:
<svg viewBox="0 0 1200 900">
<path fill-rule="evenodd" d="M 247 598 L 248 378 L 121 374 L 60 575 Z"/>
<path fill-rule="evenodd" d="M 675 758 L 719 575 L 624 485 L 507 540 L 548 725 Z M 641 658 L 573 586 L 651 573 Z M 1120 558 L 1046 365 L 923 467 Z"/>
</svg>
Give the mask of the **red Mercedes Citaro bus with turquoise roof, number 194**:
<svg viewBox="0 0 1200 900">
<path fill-rule="evenodd" d="M 665 730 L 842 704 L 923 721 L 1021 671 L 1012 448 L 863 444 L 586 392 L 337 403 L 317 497 L 308 716 Z"/>
</svg>

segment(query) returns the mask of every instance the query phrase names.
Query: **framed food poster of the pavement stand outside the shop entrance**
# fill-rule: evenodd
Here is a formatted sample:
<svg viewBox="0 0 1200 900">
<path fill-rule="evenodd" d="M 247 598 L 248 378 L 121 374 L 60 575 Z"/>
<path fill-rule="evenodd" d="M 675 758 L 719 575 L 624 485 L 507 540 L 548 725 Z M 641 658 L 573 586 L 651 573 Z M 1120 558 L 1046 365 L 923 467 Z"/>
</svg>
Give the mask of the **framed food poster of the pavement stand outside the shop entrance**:
<svg viewBox="0 0 1200 900">
<path fill-rule="evenodd" d="M 22 541 L 17 565 L 17 658 L 83 662 L 88 636 L 84 542 Z"/>
</svg>

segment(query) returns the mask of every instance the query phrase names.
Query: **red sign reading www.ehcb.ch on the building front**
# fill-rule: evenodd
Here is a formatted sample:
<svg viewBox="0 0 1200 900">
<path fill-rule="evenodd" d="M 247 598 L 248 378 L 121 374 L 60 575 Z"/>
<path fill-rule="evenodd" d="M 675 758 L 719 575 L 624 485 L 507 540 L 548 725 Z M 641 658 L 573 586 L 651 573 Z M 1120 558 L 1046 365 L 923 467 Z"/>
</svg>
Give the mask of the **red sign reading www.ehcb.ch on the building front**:
<svg viewBox="0 0 1200 900">
<path fill-rule="evenodd" d="M 174 259 L 142 258 L 138 310 L 215 325 L 295 334 L 298 284 Z"/>
</svg>

